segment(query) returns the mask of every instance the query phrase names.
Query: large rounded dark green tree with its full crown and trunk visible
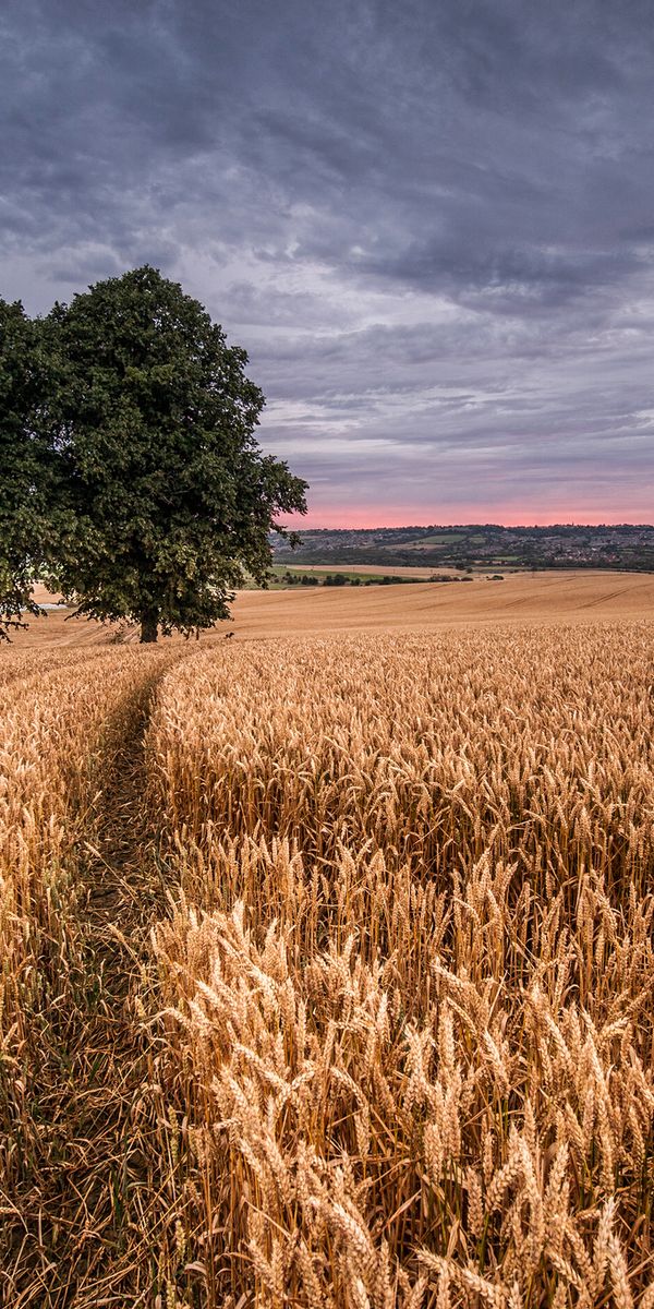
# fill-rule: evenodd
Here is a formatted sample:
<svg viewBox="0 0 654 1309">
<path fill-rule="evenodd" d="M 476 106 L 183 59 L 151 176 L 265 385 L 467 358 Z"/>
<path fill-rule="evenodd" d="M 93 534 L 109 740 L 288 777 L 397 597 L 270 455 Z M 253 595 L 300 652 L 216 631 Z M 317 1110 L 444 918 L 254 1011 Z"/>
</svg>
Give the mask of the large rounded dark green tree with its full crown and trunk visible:
<svg viewBox="0 0 654 1309">
<path fill-rule="evenodd" d="M 89 617 L 137 620 L 143 641 L 229 617 L 245 572 L 266 581 L 277 513 L 306 508 L 306 483 L 254 439 L 264 399 L 245 351 L 148 266 L 55 305 L 44 332 L 75 525 L 54 580 Z"/>
</svg>

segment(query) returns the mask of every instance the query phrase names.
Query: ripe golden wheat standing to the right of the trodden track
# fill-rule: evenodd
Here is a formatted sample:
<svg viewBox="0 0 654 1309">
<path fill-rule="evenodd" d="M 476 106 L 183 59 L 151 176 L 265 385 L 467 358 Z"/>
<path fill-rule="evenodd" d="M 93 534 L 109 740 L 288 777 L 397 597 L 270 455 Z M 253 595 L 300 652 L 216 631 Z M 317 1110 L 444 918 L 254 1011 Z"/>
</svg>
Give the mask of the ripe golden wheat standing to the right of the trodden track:
<svg viewBox="0 0 654 1309">
<path fill-rule="evenodd" d="M 164 681 L 160 1121 L 208 1304 L 650 1302 L 651 635 L 289 640 Z"/>
</svg>

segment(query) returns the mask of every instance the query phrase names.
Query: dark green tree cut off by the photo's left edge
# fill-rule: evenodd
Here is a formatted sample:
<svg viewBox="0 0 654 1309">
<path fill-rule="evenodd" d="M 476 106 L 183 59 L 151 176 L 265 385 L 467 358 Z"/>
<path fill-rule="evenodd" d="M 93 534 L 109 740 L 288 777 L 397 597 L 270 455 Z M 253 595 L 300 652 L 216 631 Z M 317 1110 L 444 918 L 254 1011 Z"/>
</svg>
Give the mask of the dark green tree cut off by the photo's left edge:
<svg viewBox="0 0 654 1309">
<path fill-rule="evenodd" d="M 50 386 L 38 323 L 20 301 L 0 300 L 0 639 L 38 614 L 33 584 L 52 547 L 59 517 L 55 461 L 41 431 Z"/>
</svg>

